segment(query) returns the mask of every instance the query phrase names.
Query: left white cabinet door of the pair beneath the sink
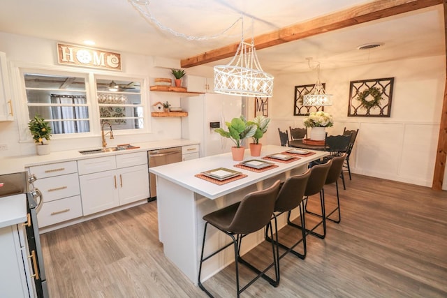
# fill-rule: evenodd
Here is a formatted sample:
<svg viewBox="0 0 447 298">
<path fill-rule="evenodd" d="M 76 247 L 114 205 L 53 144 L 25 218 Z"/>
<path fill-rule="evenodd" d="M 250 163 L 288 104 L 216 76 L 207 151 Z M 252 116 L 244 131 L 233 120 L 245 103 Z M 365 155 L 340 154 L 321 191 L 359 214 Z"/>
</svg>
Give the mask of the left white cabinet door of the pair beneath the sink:
<svg viewBox="0 0 447 298">
<path fill-rule="evenodd" d="M 84 216 L 119 206 L 119 177 L 115 171 L 79 177 Z"/>
</svg>

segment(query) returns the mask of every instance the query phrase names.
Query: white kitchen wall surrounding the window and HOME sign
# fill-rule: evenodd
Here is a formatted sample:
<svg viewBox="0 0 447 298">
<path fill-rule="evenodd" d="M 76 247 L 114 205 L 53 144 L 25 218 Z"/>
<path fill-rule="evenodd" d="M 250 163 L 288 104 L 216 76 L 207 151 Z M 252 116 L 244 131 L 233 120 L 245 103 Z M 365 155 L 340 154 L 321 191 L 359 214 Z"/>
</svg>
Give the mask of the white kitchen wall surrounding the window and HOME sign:
<svg viewBox="0 0 447 298">
<path fill-rule="evenodd" d="M 45 40 L 41 38 L 30 38 L 26 36 L 18 36 L 10 33 L 0 32 L 0 51 L 6 53 L 6 58 L 8 60 L 8 66 L 15 64 L 16 62 L 39 64 L 45 66 L 57 65 L 57 47 L 56 40 Z M 113 49 L 108 49 L 113 50 Z M 170 75 L 170 68 L 155 67 L 155 63 L 159 64 L 159 60 L 154 59 L 154 57 L 147 57 L 138 54 L 122 54 L 122 65 L 123 75 L 139 75 L 144 76 L 149 79 L 149 84 L 153 84 L 155 77 L 172 77 Z M 179 65 L 179 61 L 168 61 L 173 62 L 172 65 Z M 80 68 L 73 67 L 73 70 L 80 70 Z M 93 69 L 83 69 L 92 73 L 97 73 L 100 70 Z M 199 68 L 200 70 L 200 68 Z M 104 72 L 102 72 L 104 73 Z M 109 72 L 116 75 L 117 72 Z M 11 74 L 11 69 L 10 69 Z M 11 77 L 10 80 L 16 80 L 15 77 Z M 14 82 L 11 82 L 13 85 Z M 19 85 L 19 84 L 16 84 Z M 16 94 L 16 92 L 13 92 Z M 13 95 L 13 107 L 17 111 L 20 107 L 20 98 L 17 95 Z M 180 106 L 180 96 L 177 94 L 167 94 L 167 93 L 156 93 L 147 92 L 146 98 L 147 107 L 152 109 L 152 104 L 157 101 L 168 100 L 173 106 Z M 151 112 L 151 111 L 149 111 Z M 18 121 L 25 121 L 27 119 L 21 119 L 19 113 L 15 113 L 15 120 L 12 122 L 0 122 L 0 144 L 7 144 L 7 151 L 0 151 L 1 156 L 17 156 L 17 155 L 28 155 L 35 154 L 35 145 L 31 140 L 27 142 L 20 142 L 19 140 L 19 126 Z M 150 113 L 149 113 L 150 114 Z M 181 121 L 180 118 L 171 117 L 154 117 L 149 118 L 149 133 L 139 133 L 134 135 L 120 135 L 119 132 L 115 133 L 115 140 L 108 140 L 109 146 L 114 146 L 116 144 L 123 143 L 133 143 L 133 142 L 147 142 L 152 140 L 166 140 L 173 138 L 181 138 Z M 52 151 L 62 151 L 67 149 L 85 149 L 93 147 L 101 147 L 101 135 L 96 135 L 94 137 L 73 137 L 65 140 L 55 140 L 56 137 L 52 137 L 51 148 Z"/>
</svg>

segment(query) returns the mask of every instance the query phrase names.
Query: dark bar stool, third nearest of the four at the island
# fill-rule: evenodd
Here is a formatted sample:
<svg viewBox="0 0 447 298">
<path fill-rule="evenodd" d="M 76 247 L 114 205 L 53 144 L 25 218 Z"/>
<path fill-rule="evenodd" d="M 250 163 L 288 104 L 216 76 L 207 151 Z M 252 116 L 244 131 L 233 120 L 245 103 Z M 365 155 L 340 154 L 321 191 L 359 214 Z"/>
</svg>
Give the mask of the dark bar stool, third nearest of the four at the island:
<svg viewBox="0 0 447 298">
<path fill-rule="evenodd" d="M 288 225 L 292 225 L 293 227 L 300 228 L 308 232 L 309 234 L 312 234 L 318 238 L 324 239 L 326 236 L 326 216 L 325 216 L 325 209 L 324 209 L 324 195 L 323 195 L 323 186 L 326 181 L 326 177 L 328 177 L 328 172 L 330 169 L 330 166 L 332 165 L 332 159 L 330 159 L 327 163 L 323 163 L 321 165 L 314 165 L 311 167 L 310 177 L 307 181 L 306 191 L 305 191 L 305 210 L 307 209 L 307 200 L 309 200 L 310 195 L 315 195 L 317 193 L 320 194 L 320 203 L 321 203 L 321 214 L 323 214 L 321 221 L 316 223 L 314 225 L 314 228 L 307 229 L 305 227 L 302 227 L 300 225 L 296 225 L 295 223 L 292 223 L 290 220 L 290 214 L 288 214 L 287 217 L 287 223 Z M 317 232 L 314 232 L 316 228 L 318 228 L 321 224 L 323 224 L 323 233 L 318 234 Z"/>
</svg>

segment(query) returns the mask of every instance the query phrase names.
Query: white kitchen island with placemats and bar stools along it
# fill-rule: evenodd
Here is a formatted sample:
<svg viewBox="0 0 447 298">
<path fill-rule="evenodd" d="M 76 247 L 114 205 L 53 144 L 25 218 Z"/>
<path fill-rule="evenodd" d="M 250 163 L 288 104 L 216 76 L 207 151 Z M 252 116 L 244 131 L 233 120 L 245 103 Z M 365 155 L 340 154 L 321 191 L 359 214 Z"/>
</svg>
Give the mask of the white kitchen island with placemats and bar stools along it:
<svg viewBox="0 0 447 298">
<path fill-rule="evenodd" d="M 263 161 L 263 156 L 279 154 L 288 149 L 293 148 L 274 145 L 263 146 L 261 156 L 258 158 L 249 156 L 249 150 L 246 150 L 244 161 L 251 159 Z M 157 177 L 159 239 L 163 243 L 165 255 L 197 285 L 198 265 L 205 225 L 203 216 L 229 204 L 239 202 L 244 198 L 244 195 L 251 191 L 267 188 L 277 179 L 284 181 L 291 175 L 301 174 L 307 170 L 309 162 L 328 155 L 328 152 L 324 151 L 312 152 L 314 154 L 300 157 L 290 163 L 272 162 L 277 167 L 264 172 L 253 172 L 235 167 L 238 162 L 233 161 L 230 153 L 149 168 L 149 172 L 156 174 Z M 219 167 L 236 170 L 247 175 L 247 177 L 223 185 L 213 184 L 205 179 L 195 177 L 200 172 Z M 284 225 L 284 220 L 280 221 L 279 225 Z M 254 248 L 263 240 L 262 231 L 245 237 L 241 255 L 250 251 L 251 248 Z M 205 244 L 205 255 L 207 251 L 212 251 L 226 243 L 228 243 L 228 237 L 210 227 Z M 203 280 L 214 275 L 233 261 L 233 251 L 231 248 L 227 248 L 219 256 L 215 256 L 212 260 L 204 263 Z"/>
</svg>

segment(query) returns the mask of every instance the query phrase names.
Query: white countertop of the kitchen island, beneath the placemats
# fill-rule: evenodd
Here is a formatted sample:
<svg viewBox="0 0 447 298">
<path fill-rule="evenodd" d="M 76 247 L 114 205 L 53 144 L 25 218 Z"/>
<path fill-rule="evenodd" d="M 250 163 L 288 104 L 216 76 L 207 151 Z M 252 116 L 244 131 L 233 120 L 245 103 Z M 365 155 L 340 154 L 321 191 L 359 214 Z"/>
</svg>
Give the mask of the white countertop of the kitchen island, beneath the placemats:
<svg viewBox="0 0 447 298">
<path fill-rule="evenodd" d="M 288 149 L 293 148 L 266 145 L 263 146 L 262 148 L 261 156 L 257 158 L 250 156 L 249 150 L 246 149 L 244 154 L 244 161 L 248 161 L 251 159 L 259 159 L 262 161 L 261 158 L 263 156 L 269 154 L 281 153 Z M 251 172 L 249 170 L 243 170 L 239 167 L 234 167 L 234 165 L 240 162 L 233 161 L 233 158 L 231 157 L 230 153 L 207 156 L 204 158 L 194 159 L 191 161 L 184 161 L 182 163 L 171 163 L 169 165 L 161 165 L 159 167 L 149 167 L 149 172 L 159 175 L 160 177 L 172 181 L 175 184 L 179 184 L 180 186 L 183 186 L 184 188 L 187 188 L 195 193 L 204 195 L 207 198 L 215 199 L 221 197 L 222 195 L 226 195 L 228 193 L 236 191 L 240 188 L 244 188 L 251 184 L 255 184 L 256 182 L 262 181 L 268 177 L 273 177 L 281 172 L 291 170 L 294 167 L 299 167 L 300 165 L 306 165 L 310 161 L 314 161 L 316 159 L 328 155 L 328 152 L 325 151 L 313 151 L 313 152 L 315 152 L 314 155 L 308 157 L 300 157 L 298 161 L 293 161 L 291 163 L 273 162 L 276 165 L 278 165 L 278 167 L 275 167 L 272 170 L 267 170 L 265 172 L 259 172 L 259 173 Z M 226 167 L 230 170 L 236 170 L 238 172 L 247 174 L 248 177 L 238 179 L 223 185 L 213 184 L 209 181 L 205 181 L 203 179 L 194 177 L 195 174 L 199 174 L 200 172 L 205 172 L 207 170 L 213 170 L 218 167 Z"/>
</svg>

